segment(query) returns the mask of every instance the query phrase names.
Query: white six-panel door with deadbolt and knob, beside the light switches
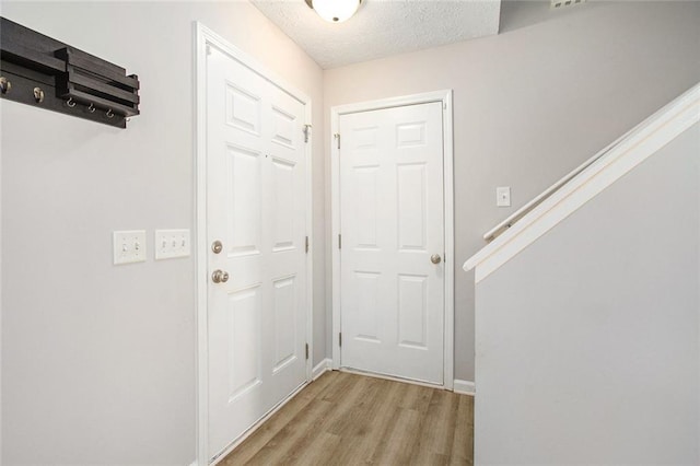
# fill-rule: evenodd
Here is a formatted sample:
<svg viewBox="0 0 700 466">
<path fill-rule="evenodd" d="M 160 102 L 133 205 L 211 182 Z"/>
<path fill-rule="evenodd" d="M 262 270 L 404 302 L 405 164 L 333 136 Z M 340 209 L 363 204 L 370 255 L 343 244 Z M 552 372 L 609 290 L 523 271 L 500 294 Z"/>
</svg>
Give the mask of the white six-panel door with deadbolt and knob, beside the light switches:
<svg viewBox="0 0 700 466">
<path fill-rule="evenodd" d="M 304 109 L 210 49 L 207 238 L 222 245 L 208 251 L 210 458 L 306 381 Z"/>
</svg>

